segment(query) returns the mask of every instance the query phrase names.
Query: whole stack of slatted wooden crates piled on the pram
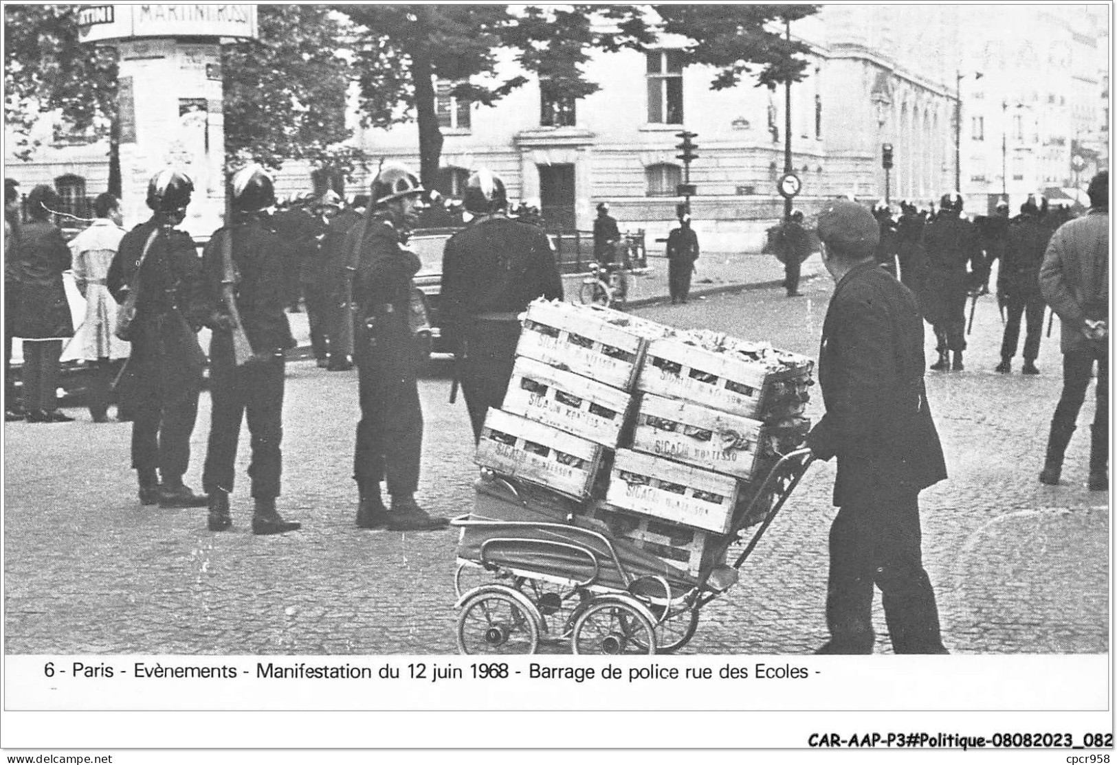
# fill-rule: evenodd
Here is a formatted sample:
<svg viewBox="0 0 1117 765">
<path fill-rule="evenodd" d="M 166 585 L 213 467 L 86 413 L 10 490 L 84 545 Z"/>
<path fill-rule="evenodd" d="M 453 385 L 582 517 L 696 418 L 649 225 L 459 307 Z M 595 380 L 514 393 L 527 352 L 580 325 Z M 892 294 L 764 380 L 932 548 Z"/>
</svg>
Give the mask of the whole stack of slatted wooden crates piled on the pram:
<svg viewBox="0 0 1117 765">
<path fill-rule="evenodd" d="M 516 352 L 477 464 L 577 501 L 575 523 L 690 574 L 724 558 L 809 427 L 813 362 L 767 343 L 541 300 Z"/>
</svg>

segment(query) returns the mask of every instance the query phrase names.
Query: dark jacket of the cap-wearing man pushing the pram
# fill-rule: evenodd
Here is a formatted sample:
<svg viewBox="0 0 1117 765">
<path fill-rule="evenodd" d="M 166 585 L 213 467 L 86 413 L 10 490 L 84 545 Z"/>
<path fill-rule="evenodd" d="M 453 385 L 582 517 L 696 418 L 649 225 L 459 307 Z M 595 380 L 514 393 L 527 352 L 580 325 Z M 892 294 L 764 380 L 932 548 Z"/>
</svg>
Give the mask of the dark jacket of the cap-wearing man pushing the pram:
<svg viewBox="0 0 1117 765">
<path fill-rule="evenodd" d="M 918 491 L 946 477 L 923 381 L 923 336 L 915 296 L 872 261 L 834 288 L 819 350 L 827 411 L 808 445 L 838 457 L 836 505 L 853 501 L 859 486 Z"/>
</svg>

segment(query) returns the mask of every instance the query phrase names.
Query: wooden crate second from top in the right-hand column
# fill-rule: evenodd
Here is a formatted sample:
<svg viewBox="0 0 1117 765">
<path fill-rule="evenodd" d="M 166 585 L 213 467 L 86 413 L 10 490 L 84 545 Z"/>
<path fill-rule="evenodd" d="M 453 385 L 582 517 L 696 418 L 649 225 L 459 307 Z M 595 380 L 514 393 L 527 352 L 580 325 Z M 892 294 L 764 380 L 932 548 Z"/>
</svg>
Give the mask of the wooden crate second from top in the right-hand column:
<svg viewBox="0 0 1117 765">
<path fill-rule="evenodd" d="M 632 448 L 744 481 L 771 451 L 760 420 L 651 394 L 638 405 Z"/>
</svg>

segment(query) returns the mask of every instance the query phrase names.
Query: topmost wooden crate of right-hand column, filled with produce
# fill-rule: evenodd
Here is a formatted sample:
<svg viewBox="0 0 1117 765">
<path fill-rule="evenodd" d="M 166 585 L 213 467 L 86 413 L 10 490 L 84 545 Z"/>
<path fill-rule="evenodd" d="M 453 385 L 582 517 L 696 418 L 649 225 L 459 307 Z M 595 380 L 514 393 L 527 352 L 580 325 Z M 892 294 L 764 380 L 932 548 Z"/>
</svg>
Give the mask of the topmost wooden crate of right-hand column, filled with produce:
<svg viewBox="0 0 1117 765">
<path fill-rule="evenodd" d="M 753 361 L 734 352 L 718 352 L 677 338 L 651 340 L 645 352 L 637 389 L 753 419 L 789 416 L 784 407 L 770 410 L 776 384 L 809 384 L 813 362 L 806 357 L 784 355 L 787 365 Z M 780 391 L 784 393 L 784 391 Z M 782 404 L 784 399 L 776 397 Z M 805 401 L 802 403 L 805 406 Z M 799 411 L 790 414 L 801 414 Z"/>
</svg>

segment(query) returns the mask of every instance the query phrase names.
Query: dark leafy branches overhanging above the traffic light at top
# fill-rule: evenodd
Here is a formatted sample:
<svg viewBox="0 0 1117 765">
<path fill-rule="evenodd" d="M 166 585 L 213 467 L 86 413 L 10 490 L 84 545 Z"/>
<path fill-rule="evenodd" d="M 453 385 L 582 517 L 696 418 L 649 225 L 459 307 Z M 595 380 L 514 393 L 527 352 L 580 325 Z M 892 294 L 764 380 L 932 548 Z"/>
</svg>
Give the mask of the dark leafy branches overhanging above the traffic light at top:
<svg viewBox="0 0 1117 765">
<path fill-rule="evenodd" d="M 775 87 L 803 78 L 810 47 L 785 40 L 783 22 L 819 12 L 819 6 L 660 4 L 655 6 L 662 31 L 690 40 L 682 64 L 714 67 L 710 88 L 732 88 L 745 76 L 756 86 Z"/>
</svg>

